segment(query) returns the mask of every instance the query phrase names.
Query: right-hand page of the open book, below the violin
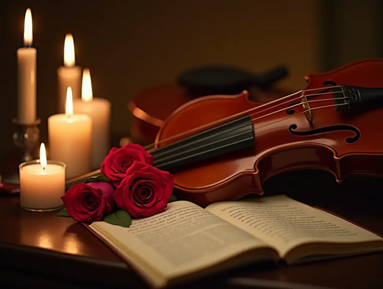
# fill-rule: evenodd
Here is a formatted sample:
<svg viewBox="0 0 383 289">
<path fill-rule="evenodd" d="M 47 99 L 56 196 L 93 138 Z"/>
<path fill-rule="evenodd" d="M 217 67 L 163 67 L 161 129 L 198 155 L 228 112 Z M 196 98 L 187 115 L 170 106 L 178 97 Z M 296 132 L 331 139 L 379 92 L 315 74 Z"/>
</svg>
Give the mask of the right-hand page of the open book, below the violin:
<svg viewBox="0 0 383 289">
<path fill-rule="evenodd" d="M 370 231 L 284 195 L 219 202 L 206 210 L 272 244 L 281 256 L 303 243 L 381 240 Z"/>
</svg>

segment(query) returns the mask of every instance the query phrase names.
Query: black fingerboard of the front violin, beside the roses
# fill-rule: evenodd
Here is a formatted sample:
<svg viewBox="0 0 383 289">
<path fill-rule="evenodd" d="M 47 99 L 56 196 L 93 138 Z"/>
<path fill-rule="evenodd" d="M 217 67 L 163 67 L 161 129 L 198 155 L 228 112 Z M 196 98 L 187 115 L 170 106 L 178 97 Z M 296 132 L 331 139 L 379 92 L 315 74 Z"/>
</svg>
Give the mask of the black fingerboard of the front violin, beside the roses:
<svg viewBox="0 0 383 289">
<path fill-rule="evenodd" d="M 153 165 L 170 171 L 211 157 L 254 147 L 251 117 L 245 115 L 151 152 Z"/>
</svg>

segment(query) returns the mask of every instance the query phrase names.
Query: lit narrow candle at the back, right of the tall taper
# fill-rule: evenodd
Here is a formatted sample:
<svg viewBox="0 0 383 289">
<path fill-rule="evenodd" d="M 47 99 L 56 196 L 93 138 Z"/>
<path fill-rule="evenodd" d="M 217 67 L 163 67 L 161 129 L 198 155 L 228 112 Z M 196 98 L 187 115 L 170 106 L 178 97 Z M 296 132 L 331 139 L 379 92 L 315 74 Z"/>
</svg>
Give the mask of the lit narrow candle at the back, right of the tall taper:
<svg viewBox="0 0 383 289">
<path fill-rule="evenodd" d="M 57 69 L 57 84 L 59 88 L 59 112 L 65 112 L 67 89 L 72 88 L 72 97 L 80 98 L 81 68 L 75 65 L 74 41 L 72 34 L 67 34 L 64 41 L 64 66 Z"/>
</svg>

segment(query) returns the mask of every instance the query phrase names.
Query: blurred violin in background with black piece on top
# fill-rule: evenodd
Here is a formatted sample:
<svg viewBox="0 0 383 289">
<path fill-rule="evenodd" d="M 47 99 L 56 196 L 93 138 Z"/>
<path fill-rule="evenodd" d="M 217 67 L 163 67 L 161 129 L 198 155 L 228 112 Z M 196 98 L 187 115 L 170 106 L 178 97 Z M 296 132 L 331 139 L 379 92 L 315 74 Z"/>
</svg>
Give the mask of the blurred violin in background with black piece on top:
<svg viewBox="0 0 383 289">
<path fill-rule="evenodd" d="M 265 102 L 285 96 L 290 91 L 273 86 L 285 78 L 288 71 L 278 66 L 254 75 L 230 67 L 201 67 L 181 73 L 176 83 L 162 83 L 139 91 L 128 102 L 132 121 L 130 133 L 142 144 L 154 142 L 169 115 L 183 104 L 201 96 L 237 94 L 244 89 L 255 102 Z"/>
</svg>

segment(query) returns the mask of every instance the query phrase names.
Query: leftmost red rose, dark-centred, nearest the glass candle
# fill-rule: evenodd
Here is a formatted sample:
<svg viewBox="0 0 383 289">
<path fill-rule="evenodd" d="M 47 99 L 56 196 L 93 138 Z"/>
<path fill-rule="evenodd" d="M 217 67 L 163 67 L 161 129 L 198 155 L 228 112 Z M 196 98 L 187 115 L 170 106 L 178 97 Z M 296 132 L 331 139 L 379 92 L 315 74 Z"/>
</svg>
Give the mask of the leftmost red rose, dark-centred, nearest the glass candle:
<svg viewBox="0 0 383 289">
<path fill-rule="evenodd" d="M 61 200 L 73 220 L 91 223 L 110 213 L 115 205 L 114 192 L 107 182 L 80 183 L 70 187 Z"/>
</svg>

